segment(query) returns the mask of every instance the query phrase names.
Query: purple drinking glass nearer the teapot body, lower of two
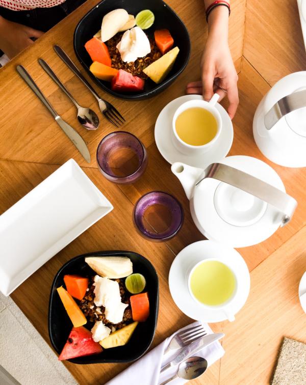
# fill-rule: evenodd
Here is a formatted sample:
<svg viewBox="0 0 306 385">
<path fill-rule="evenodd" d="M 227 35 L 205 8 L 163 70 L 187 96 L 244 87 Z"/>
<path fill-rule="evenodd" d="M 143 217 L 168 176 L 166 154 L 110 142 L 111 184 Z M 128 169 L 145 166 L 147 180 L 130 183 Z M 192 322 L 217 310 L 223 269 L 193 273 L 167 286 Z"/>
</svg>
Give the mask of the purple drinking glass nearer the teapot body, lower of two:
<svg viewBox="0 0 306 385">
<path fill-rule="evenodd" d="M 143 195 L 134 207 L 136 228 L 152 241 L 172 238 L 182 227 L 184 211 L 179 201 L 162 191 Z"/>
</svg>

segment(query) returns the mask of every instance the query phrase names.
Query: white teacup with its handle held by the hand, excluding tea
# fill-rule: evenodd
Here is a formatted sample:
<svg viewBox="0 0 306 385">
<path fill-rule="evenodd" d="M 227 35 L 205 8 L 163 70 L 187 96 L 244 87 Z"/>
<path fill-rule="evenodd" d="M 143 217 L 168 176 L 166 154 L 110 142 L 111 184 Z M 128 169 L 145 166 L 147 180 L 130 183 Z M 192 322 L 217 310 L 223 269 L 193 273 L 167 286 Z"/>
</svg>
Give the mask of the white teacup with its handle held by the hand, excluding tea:
<svg viewBox="0 0 306 385">
<path fill-rule="evenodd" d="M 198 100 L 198 99 L 189 100 L 189 101 L 181 104 L 180 107 L 176 109 L 176 111 L 173 115 L 173 119 L 172 119 L 172 135 L 171 135 L 172 136 L 172 142 L 173 142 L 173 145 L 176 148 L 176 150 L 178 150 L 178 151 L 180 151 L 186 155 L 202 154 L 202 153 L 206 152 L 207 150 L 209 150 L 215 144 L 215 142 L 217 141 L 217 139 L 221 133 L 221 129 L 222 129 L 221 116 L 219 114 L 219 111 L 215 107 L 215 104 L 217 103 L 218 99 L 219 99 L 219 95 L 214 94 L 209 102 L 207 102 L 205 100 Z M 213 139 L 210 142 L 208 142 L 204 145 L 201 145 L 201 146 L 193 146 L 193 145 L 190 145 L 190 144 L 182 141 L 180 136 L 177 135 L 176 128 L 175 128 L 175 122 L 176 122 L 177 117 L 180 114 L 182 114 L 183 111 L 186 111 L 186 109 L 193 108 L 193 107 L 200 107 L 200 108 L 206 109 L 206 111 L 209 111 L 215 117 L 215 119 L 217 121 L 216 135 L 213 137 Z"/>
</svg>

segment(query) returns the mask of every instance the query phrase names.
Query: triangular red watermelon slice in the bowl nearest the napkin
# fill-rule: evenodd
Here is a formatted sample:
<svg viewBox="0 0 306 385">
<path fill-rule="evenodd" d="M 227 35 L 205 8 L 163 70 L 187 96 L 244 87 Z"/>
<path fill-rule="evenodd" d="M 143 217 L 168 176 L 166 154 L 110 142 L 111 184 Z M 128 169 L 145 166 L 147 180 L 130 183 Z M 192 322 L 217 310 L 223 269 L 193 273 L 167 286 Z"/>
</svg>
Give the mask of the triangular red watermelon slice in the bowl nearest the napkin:
<svg viewBox="0 0 306 385">
<path fill-rule="evenodd" d="M 86 327 L 72 327 L 68 340 L 59 356 L 59 361 L 97 354 L 101 351 L 103 351 L 101 345 L 94 342 L 92 334 Z"/>
</svg>

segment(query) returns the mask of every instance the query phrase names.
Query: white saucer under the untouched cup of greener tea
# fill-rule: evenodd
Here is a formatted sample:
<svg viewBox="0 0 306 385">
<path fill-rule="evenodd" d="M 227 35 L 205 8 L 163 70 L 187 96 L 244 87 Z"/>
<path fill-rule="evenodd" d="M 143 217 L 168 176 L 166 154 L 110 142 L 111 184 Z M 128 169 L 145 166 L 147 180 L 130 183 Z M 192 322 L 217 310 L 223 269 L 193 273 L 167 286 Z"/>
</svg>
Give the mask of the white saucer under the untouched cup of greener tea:
<svg viewBox="0 0 306 385">
<path fill-rule="evenodd" d="M 243 307 L 250 291 L 250 274 L 247 265 L 237 250 L 211 240 L 202 240 L 183 249 L 172 262 L 169 271 L 169 289 L 176 306 L 188 317 L 203 322 L 226 320 L 220 310 L 207 310 L 191 297 L 188 290 L 188 272 L 197 262 L 207 258 L 224 261 L 235 272 L 238 279 L 237 297 L 233 314 Z"/>
</svg>

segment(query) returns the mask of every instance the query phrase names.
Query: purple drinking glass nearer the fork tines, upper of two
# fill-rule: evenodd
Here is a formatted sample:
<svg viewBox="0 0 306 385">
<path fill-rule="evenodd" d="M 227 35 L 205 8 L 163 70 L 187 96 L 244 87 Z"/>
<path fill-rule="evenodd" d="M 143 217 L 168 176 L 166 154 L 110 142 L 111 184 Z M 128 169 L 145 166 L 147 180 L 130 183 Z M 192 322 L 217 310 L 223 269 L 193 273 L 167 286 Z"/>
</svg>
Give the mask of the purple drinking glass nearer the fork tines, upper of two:
<svg viewBox="0 0 306 385">
<path fill-rule="evenodd" d="M 148 158 L 144 145 L 130 132 L 115 131 L 97 148 L 100 172 L 115 183 L 133 183 L 145 171 Z"/>
</svg>

